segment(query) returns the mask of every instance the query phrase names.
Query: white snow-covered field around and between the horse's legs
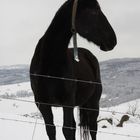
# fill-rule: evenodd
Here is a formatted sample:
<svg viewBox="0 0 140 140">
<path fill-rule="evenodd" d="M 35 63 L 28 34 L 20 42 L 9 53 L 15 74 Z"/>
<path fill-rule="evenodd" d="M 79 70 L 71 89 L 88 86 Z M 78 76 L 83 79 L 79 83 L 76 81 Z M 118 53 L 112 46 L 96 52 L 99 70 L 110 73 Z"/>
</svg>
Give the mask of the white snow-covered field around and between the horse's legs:
<svg viewBox="0 0 140 140">
<path fill-rule="evenodd" d="M 25 97 L 22 97 L 21 93 Z M 17 100 L 6 99 L 6 96 Z M 34 101 L 29 83 L 0 86 L 0 140 L 48 140 L 44 122 L 35 104 L 18 100 Z M 57 125 L 57 140 L 65 140 L 61 130 L 62 108 L 53 108 L 53 113 Z M 75 120 L 78 122 L 77 109 L 74 110 L 74 113 Z M 125 113 L 133 115 L 129 115 L 130 118 L 124 122 L 123 127 L 116 127 Z M 111 118 L 112 125 L 106 120 L 100 121 L 97 140 L 140 140 L 139 114 L 140 99 L 110 108 L 101 108 L 98 120 Z M 36 121 L 37 125 L 35 126 Z M 103 126 L 106 128 L 102 128 Z M 80 140 L 78 124 L 76 140 Z"/>
</svg>

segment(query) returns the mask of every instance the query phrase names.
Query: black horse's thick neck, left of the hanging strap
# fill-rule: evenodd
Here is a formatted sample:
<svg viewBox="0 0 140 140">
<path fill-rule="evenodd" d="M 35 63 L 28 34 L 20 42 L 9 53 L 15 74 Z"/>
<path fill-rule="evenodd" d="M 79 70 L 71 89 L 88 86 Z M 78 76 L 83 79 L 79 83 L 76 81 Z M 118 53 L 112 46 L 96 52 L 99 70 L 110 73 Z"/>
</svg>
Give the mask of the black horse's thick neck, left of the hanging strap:
<svg viewBox="0 0 140 140">
<path fill-rule="evenodd" d="M 31 63 L 31 72 L 55 73 L 62 71 L 67 63 L 67 48 L 72 36 L 71 1 L 58 10 L 48 30 L 38 42 Z M 69 6 L 68 6 L 69 5 Z M 65 66 L 64 66 L 65 65 Z"/>
</svg>

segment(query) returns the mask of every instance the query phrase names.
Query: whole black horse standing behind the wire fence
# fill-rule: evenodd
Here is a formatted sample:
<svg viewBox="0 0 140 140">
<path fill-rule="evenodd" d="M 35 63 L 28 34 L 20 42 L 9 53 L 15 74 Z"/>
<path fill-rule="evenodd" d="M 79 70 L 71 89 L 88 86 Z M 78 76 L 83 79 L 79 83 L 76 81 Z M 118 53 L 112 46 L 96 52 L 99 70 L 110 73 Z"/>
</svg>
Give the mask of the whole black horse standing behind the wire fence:
<svg viewBox="0 0 140 140">
<path fill-rule="evenodd" d="M 76 127 L 73 116 L 75 106 L 79 106 L 79 125 L 85 130 L 81 135 L 88 139 L 88 131 L 92 130 L 92 140 L 96 140 L 102 93 L 99 63 L 94 55 L 83 48 L 78 49 L 80 62 L 76 62 L 73 49 L 68 49 L 72 37 L 73 3 L 74 0 L 67 0 L 58 10 L 37 44 L 30 67 L 31 87 L 50 140 L 56 140 L 51 110 L 53 105 L 63 107 L 63 133 L 66 140 L 75 140 L 75 129 L 69 128 Z M 116 45 L 116 35 L 96 0 L 78 1 L 75 26 L 79 35 L 95 43 L 103 51 L 112 50 Z M 62 80 L 60 77 L 67 79 Z M 70 79 L 97 83 L 89 84 Z"/>
</svg>

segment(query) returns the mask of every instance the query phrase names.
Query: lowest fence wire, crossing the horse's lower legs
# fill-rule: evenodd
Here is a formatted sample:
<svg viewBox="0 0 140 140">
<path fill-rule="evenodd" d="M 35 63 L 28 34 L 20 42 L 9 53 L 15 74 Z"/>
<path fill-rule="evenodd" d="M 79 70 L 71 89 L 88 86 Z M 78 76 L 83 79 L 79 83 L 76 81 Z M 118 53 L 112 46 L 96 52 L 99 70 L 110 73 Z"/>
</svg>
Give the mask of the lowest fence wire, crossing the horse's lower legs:
<svg viewBox="0 0 140 140">
<path fill-rule="evenodd" d="M 45 123 L 41 123 L 41 122 L 33 122 L 33 121 L 24 121 L 24 120 L 17 120 L 17 119 L 8 119 L 8 118 L 3 118 L 0 117 L 0 120 L 4 120 L 4 121 L 13 121 L 13 122 L 21 122 L 21 123 L 29 123 L 29 124 L 35 124 L 36 125 L 46 125 L 46 126 L 50 126 L 50 127 L 57 127 L 57 128 L 66 128 L 66 129 L 71 129 L 71 130 L 80 130 L 79 128 L 75 128 L 75 127 L 68 127 L 68 126 L 61 126 L 61 125 L 51 125 L 51 124 L 45 124 Z M 88 131 L 88 130 L 85 130 Z M 137 138 L 140 139 L 140 136 L 135 136 L 135 135 L 127 135 L 127 134 L 120 134 L 120 133 L 112 133 L 112 132 L 105 132 L 105 131 L 95 131 L 95 130 L 89 130 L 90 132 L 97 132 L 97 133 L 103 133 L 103 134 L 108 134 L 108 135 L 116 135 L 116 136 L 123 136 L 123 137 L 130 137 L 130 138 Z M 35 132 L 34 132 L 35 133 Z"/>
</svg>

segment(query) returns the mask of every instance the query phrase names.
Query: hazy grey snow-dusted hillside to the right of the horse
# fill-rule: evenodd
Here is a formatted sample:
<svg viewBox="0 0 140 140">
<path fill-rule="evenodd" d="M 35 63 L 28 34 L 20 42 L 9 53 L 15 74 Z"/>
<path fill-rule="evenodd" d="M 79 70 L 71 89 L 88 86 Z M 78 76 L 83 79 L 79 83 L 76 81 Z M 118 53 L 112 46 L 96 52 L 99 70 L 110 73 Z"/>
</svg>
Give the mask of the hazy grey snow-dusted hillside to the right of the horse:
<svg viewBox="0 0 140 140">
<path fill-rule="evenodd" d="M 140 98 L 140 58 L 101 63 L 102 106 L 114 106 Z"/>
</svg>

